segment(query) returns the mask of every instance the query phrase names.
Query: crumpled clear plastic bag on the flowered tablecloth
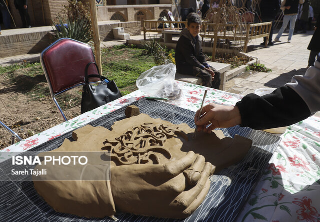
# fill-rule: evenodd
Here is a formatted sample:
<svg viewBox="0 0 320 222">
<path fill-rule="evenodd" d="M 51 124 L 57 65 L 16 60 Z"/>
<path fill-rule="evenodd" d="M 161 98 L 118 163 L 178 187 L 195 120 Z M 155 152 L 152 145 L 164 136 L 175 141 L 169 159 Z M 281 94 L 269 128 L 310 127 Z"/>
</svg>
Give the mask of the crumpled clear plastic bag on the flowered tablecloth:
<svg viewBox="0 0 320 222">
<path fill-rule="evenodd" d="M 136 86 L 149 96 L 181 100 L 184 96 L 174 81 L 175 70 L 172 63 L 153 66 L 139 75 Z"/>
</svg>

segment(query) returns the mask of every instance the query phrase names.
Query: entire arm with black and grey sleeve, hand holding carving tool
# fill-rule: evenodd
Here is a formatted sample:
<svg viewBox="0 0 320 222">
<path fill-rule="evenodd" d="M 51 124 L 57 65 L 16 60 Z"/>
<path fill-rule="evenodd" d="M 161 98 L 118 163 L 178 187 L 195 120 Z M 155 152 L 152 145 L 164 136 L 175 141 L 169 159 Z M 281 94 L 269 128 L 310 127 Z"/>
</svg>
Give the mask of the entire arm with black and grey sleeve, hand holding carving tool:
<svg viewBox="0 0 320 222">
<path fill-rule="evenodd" d="M 203 131 L 235 125 L 267 129 L 294 124 L 319 110 L 320 62 L 316 60 L 304 76 L 293 76 L 290 83 L 270 94 L 261 97 L 248 94 L 235 107 L 211 103 L 203 107 L 200 120 L 197 120 L 199 110 L 194 120 L 198 130 Z"/>
</svg>

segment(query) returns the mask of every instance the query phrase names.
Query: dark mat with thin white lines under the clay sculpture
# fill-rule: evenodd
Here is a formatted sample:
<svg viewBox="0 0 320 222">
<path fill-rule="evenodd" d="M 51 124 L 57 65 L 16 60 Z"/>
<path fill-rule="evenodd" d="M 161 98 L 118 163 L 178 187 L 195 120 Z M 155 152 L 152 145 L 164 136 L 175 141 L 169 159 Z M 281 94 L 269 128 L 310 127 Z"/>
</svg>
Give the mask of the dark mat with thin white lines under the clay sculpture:
<svg viewBox="0 0 320 222">
<path fill-rule="evenodd" d="M 132 104 L 141 113 L 175 124 L 186 123 L 194 128 L 194 112 L 164 102 L 140 99 Z M 90 123 L 110 129 L 113 122 L 125 118 L 122 107 Z M 118 214 L 119 222 L 232 222 L 245 204 L 276 149 L 280 138 L 262 131 L 239 126 L 221 129 L 225 136 L 235 134 L 252 140 L 246 157 L 237 165 L 228 167 L 211 177 L 209 193 L 200 207 L 184 220 Z M 29 151 L 49 151 L 60 146 L 71 132 L 54 138 Z M 3 163 L 0 164 L 0 170 Z M 50 192 L 50 191 L 48 191 Z M 55 212 L 36 193 L 32 181 L 0 181 L 0 222 L 113 222 L 112 219 L 87 219 Z"/>
</svg>

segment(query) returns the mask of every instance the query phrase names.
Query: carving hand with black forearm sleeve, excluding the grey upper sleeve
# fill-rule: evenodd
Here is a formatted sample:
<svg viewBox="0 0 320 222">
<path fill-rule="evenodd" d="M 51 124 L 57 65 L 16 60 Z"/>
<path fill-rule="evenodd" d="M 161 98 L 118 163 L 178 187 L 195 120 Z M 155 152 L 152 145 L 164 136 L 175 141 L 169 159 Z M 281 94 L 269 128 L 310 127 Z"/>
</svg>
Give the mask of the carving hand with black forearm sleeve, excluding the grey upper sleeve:
<svg viewBox="0 0 320 222">
<path fill-rule="evenodd" d="M 277 88 L 274 92 L 261 97 L 253 93 L 248 94 L 234 107 L 211 103 L 202 108 L 202 113 L 203 116 L 199 120 L 195 118 L 195 124 L 198 126 L 198 131 L 205 132 L 217 127 L 235 125 L 252 129 L 287 126 L 310 115 L 305 102 L 287 86 Z"/>
</svg>

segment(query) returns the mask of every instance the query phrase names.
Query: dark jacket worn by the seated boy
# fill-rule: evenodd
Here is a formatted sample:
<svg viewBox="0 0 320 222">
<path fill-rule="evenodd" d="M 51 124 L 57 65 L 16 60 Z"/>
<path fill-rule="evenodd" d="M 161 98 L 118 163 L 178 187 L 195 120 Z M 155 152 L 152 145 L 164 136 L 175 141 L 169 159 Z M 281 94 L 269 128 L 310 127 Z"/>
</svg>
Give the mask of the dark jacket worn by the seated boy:
<svg viewBox="0 0 320 222">
<path fill-rule="evenodd" d="M 176 71 L 181 74 L 191 74 L 192 66 L 201 69 L 204 66 L 209 67 L 202 52 L 201 37 L 197 35 L 193 38 L 187 28 L 184 28 L 180 33 L 174 57 Z"/>
</svg>

